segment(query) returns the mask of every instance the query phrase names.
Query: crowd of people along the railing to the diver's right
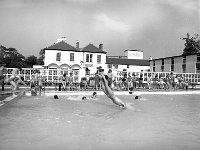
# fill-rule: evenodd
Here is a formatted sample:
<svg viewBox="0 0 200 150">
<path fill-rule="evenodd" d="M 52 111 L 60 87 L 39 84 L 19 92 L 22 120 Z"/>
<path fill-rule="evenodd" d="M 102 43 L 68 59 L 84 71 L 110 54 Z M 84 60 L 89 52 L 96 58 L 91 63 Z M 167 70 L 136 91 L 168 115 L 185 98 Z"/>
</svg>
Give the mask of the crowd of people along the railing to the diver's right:
<svg viewBox="0 0 200 150">
<path fill-rule="evenodd" d="M 146 80 L 143 80 L 143 77 L 136 76 L 124 76 L 117 80 L 113 80 L 113 88 L 115 90 L 133 90 L 137 88 L 146 88 L 146 89 L 188 89 L 189 83 L 184 81 L 181 75 L 169 74 L 166 77 L 153 77 L 151 74 L 145 76 Z"/>
</svg>

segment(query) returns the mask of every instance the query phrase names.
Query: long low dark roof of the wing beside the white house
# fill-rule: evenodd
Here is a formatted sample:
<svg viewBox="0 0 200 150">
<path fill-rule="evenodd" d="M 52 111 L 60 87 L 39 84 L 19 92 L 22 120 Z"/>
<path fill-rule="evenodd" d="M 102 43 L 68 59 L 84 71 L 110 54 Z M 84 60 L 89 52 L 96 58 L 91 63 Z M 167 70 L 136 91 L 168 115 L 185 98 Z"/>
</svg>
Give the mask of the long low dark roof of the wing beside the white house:
<svg viewBox="0 0 200 150">
<path fill-rule="evenodd" d="M 121 59 L 121 58 L 108 58 L 108 57 L 106 58 L 106 64 L 150 66 L 149 60 L 144 60 L 144 59 Z"/>
</svg>

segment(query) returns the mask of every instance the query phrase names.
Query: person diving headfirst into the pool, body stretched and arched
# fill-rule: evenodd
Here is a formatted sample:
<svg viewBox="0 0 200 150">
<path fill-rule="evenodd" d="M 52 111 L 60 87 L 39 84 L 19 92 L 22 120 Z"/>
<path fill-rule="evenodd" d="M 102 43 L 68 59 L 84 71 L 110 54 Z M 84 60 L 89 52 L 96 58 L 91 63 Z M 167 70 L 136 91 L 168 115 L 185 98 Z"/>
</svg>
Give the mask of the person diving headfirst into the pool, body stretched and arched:
<svg viewBox="0 0 200 150">
<path fill-rule="evenodd" d="M 102 89 L 104 93 L 112 100 L 112 102 L 122 108 L 125 108 L 126 105 L 123 103 L 118 97 L 114 95 L 114 92 L 111 90 L 111 88 L 108 86 L 108 81 L 105 78 L 105 75 L 103 74 L 103 70 L 100 70 L 99 77 L 101 79 L 102 83 Z"/>
</svg>

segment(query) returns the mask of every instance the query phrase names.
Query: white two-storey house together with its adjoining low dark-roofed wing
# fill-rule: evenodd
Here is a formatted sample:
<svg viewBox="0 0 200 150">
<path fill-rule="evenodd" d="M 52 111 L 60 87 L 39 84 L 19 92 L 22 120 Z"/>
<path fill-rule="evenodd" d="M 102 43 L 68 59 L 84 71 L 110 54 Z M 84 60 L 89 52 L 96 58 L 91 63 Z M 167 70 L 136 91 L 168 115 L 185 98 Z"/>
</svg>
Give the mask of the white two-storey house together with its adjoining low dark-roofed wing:
<svg viewBox="0 0 200 150">
<path fill-rule="evenodd" d="M 139 50 L 125 50 L 124 56 L 109 56 L 103 50 L 103 44 L 96 47 L 88 44 L 83 48 L 79 47 L 79 41 L 76 46 L 67 43 L 65 37 L 58 39 L 57 42 L 47 48 L 45 51 L 44 66 L 48 69 L 80 70 L 84 76 L 86 71 L 95 74 L 97 68 L 101 66 L 105 73 L 109 69 L 113 71 L 149 71 L 149 60 L 143 60 L 143 52 Z"/>
</svg>

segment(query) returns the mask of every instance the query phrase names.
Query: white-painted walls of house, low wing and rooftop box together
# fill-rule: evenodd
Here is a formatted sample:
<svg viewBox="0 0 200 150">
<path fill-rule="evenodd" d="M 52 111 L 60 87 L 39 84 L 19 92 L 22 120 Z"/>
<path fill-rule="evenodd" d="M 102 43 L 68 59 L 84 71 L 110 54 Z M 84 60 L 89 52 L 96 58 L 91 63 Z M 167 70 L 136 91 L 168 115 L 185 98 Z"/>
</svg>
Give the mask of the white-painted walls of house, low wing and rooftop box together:
<svg viewBox="0 0 200 150">
<path fill-rule="evenodd" d="M 61 38 L 58 39 L 56 44 L 59 45 L 60 42 L 65 42 L 62 43 L 63 45 L 67 44 L 66 43 L 66 38 Z M 98 67 L 102 67 L 104 69 L 104 72 L 107 73 L 109 69 L 113 70 L 114 72 L 117 71 L 135 71 L 135 72 L 141 72 L 141 71 L 147 71 L 150 69 L 150 66 L 143 66 L 143 65 L 124 65 L 120 64 L 120 59 L 118 61 L 117 68 L 115 68 L 112 65 L 112 68 L 109 68 L 109 65 L 106 64 L 106 52 L 103 51 L 103 44 L 99 45 L 99 48 L 92 47 L 97 50 L 97 52 L 92 51 L 89 48 L 89 51 L 84 51 L 83 49 L 79 48 L 79 42 L 76 43 L 76 48 L 71 47 L 72 50 L 65 49 L 63 45 L 60 45 L 61 48 L 56 47 L 55 44 L 50 46 L 50 48 L 45 48 L 45 59 L 44 59 L 44 66 L 45 68 L 48 69 L 64 69 L 64 70 L 79 70 L 79 76 L 80 77 L 85 77 L 86 75 L 86 68 L 90 70 L 90 74 L 95 74 L 97 71 Z M 89 44 L 90 45 L 90 44 Z M 65 45 L 66 46 L 66 45 Z M 87 47 L 87 46 L 86 46 Z M 55 48 L 55 49 L 54 49 Z M 99 51 L 100 50 L 100 51 Z M 102 50 L 102 51 L 101 51 Z M 134 53 L 134 54 L 133 54 Z M 59 59 L 58 59 L 59 55 Z M 70 60 L 70 56 L 73 55 L 74 59 Z M 87 55 L 92 55 L 92 59 L 90 62 L 88 62 Z M 143 52 L 142 51 L 137 51 L 137 50 L 126 50 L 125 51 L 126 59 L 143 59 Z M 101 61 L 99 61 L 99 57 L 101 58 Z"/>
</svg>

